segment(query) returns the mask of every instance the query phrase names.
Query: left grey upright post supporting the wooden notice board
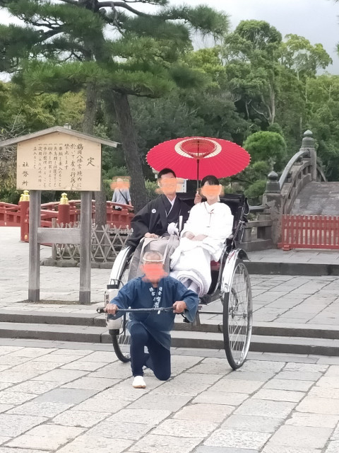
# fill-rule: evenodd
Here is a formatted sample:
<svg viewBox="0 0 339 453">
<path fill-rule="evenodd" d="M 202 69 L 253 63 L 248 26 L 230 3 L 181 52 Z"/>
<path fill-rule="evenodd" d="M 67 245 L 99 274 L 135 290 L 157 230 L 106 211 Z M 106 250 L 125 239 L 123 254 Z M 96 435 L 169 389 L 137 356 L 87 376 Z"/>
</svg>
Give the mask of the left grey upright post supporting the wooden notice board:
<svg viewBox="0 0 339 453">
<path fill-rule="evenodd" d="M 40 301 L 40 243 L 37 229 L 41 218 L 41 190 L 30 191 L 30 248 L 28 263 L 28 300 Z"/>
</svg>

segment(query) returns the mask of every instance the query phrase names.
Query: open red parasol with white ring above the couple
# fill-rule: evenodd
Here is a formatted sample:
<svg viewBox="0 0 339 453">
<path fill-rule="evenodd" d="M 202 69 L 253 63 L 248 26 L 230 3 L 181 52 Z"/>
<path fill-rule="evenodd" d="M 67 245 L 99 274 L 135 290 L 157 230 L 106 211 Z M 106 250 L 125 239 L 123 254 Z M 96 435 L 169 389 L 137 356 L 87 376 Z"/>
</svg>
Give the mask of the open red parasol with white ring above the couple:
<svg viewBox="0 0 339 453">
<path fill-rule="evenodd" d="M 244 148 L 228 140 L 185 137 L 157 144 L 146 159 L 156 171 L 169 167 L 179 178 L 199 180 L 207 175 L 217 178 L 235 175 L 249 165 L 251 157 Z"/>
</svg>

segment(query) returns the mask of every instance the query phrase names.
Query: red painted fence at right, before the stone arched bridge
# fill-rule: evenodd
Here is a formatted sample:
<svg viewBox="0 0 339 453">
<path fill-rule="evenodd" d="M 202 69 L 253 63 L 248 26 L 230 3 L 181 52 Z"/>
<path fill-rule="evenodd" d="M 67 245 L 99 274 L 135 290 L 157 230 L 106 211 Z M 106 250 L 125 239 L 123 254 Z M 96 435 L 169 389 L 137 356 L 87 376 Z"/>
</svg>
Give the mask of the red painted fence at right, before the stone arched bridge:
<svg viewBox="0 0 339 453">
<path fill-rule="evenodd" d="M 339 217 L 283 215 L 278 247 L 339 249 Z"/>
</svg>

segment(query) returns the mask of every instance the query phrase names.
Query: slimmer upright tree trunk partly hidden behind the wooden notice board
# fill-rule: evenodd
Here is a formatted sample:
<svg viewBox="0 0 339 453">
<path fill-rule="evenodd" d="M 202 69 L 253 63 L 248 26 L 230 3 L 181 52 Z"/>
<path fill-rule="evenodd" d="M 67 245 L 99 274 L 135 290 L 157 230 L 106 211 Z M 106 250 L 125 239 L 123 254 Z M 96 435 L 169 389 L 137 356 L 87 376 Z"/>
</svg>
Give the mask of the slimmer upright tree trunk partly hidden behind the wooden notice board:
<svg viewBox="0 0 339 453">
<path fill-rule="evenodd" d="M 97 86 L 89 83 L 86 88 L 86 108 L 83 117 L 83 132 L 93 134 L 95 114 L 97 112 Z M 98 230 L 107 222 L 106 193 L 101 186 L 100 192 L 95 192 L 95 227 Z"/>
</svg>

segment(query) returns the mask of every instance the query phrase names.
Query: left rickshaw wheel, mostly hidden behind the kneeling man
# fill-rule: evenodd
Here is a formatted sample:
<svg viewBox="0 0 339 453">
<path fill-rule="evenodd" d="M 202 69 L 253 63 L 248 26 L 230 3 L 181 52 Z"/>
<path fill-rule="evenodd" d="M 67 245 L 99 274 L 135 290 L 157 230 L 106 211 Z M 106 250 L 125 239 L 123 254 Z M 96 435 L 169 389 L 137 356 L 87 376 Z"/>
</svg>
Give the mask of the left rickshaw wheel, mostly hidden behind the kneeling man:
<svg viewBox="0 0 339 453">
<path fill-rule="evenodd" d="M 121 278 L 119 278 L 119 289 L 126 285 L 129 278 L 129 262 L 126 261 L 126 265 L 121 272 Z M 127 328 L 127 323 L 129 321 L 129 315 L 125 314 L 123 321 L 121 323 L 121 328 L 119 331 L 109 331 L 112 336 L 112 345 L 114 352 L 117 355 L 118 359 L 121 362 L 130 362 L 130 345 L 131 345 L 131 336 Z"/>
</svg>

